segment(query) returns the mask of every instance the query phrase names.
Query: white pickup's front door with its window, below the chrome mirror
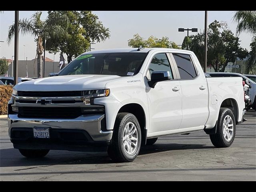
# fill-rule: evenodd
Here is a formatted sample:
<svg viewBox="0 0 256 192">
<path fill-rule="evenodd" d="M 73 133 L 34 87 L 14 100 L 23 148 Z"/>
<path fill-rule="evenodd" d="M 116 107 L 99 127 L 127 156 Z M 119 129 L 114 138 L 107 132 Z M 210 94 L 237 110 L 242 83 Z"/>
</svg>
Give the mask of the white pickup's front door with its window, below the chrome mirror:
<svg viewBox="0 0 256 192">
<path fill-rule="evenodd" d="M 147 72 L 148 80 L 152 71 L 170 71 L 171 79 L 174 79 L 168 57 L 166 53 L 154 55 Z M 178 129 L 182 120 L 180 82 L 166 80 L 158 82 L 155 88 L 147 86 L 146 89 L 150 115 L 148 133 L 159 132 L 161 135 L 160 132 Z"/>
</svg>

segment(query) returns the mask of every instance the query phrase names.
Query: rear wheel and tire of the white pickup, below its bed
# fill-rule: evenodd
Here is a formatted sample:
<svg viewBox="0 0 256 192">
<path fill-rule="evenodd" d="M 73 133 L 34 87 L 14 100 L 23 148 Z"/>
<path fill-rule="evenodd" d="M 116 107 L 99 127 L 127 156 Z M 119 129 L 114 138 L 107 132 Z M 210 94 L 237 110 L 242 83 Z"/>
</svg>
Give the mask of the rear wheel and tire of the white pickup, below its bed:
<svg viewBox="0 0 256 192">
<path fill-rule="evenodd" d="M 229 120 L 229 123 L 227 123 L 226 120 L 227 121 Z M 233 124 L 233 126 L 229 126 L 230 128 L 228 128 L 226 124 L 228 125 Z M 232 128 L 233 128 L 233 131 L 231 131 Z M 226 136 L 224 136 L 224 134 Z M 233 112 L 229 108 L 220 108 L 220 113 L 219 113 L 218 122 L 217 122 L 217 132 L 216 134 L 210 134 L 210 139 L 212 144 L 217 148 L 229 147 L 234 142 L 235 136 L 236 136 L 236 120 Z"/>
</svg>

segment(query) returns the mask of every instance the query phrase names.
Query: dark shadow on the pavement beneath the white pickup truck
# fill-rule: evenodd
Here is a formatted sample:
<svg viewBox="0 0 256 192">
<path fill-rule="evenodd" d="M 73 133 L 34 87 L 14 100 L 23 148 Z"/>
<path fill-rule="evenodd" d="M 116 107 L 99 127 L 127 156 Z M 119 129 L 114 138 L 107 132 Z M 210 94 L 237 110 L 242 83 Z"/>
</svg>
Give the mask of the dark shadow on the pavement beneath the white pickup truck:
<svg viewBox="0 0 256 192">
<path fill-rule="evenodd" d="M 154 144 L 144 146 L 140 150 L 142 154 L 152 154 L 172 150 L 186 149 L 207 149 L 214 146 L 204 146 L 202 144 Z M 0 167 L 16 166 L 51 166 L 65 164 L 111 164 L 114 163 L 106 152 L 69 152 L 52 150 L 44 158 L 29 159 L 23 157 L 17 149 L 0 149 Z M 28 168 L 30 169 L 30 168 Z"/>
</svg>

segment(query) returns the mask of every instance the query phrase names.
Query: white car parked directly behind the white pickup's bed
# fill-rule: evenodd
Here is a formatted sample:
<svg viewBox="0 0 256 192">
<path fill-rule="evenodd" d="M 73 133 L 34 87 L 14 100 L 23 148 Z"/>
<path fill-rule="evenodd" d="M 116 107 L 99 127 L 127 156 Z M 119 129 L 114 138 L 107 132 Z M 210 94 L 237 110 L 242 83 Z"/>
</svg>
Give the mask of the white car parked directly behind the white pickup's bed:
<svg viewBox="0 0 256 192">
<path fill-rule="evenodd" d="M 250 106 L 251 108 L 253 108 L 255 110 L 256 108 L 256 82 L 254 82 L 253 80 L 249 79 L 248 77 L 239 74 L 239 73 L 225 73 L 225 72 L 210 72 L 210 73 L 206 73 L 212 77 L 242 77 L 243 81 L 246 82 L 246 84 L 248 86 L 250 86 L 250 91 L 249 91 L 249 96 L 250 99 L 252 100 L 252 105 Z M 248 109 L 250 108 L 248 107 Z"/>
</svg>

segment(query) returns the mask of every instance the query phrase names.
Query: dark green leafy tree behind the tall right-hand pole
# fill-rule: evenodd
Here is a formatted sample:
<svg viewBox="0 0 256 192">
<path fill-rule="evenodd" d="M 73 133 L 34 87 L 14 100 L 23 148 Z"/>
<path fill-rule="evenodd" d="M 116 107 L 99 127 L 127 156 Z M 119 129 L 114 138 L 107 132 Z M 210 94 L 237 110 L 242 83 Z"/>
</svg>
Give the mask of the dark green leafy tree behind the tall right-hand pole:
<svg viewBox="0 0 256 192">
<path fill-rule="evenodd" d="M 235 62 L 237 57 L 244 59 L 248 55 L 247 50 L 240 47 L 239 38 L 228 30 L 226 22 L 212 22 L 207 37 L 207 63 L 215 72 L 224 72 L 229 62 Z M 196 54 L 201 64 L 204 64 L 204 33 L 185 37 L 182 49 L 187 48 Z"/>
</svg>

